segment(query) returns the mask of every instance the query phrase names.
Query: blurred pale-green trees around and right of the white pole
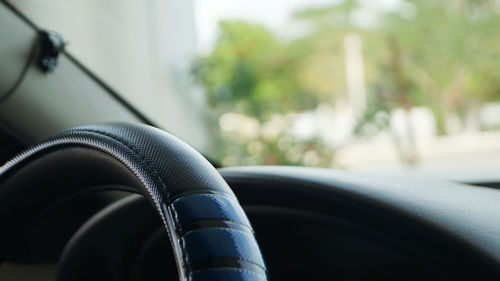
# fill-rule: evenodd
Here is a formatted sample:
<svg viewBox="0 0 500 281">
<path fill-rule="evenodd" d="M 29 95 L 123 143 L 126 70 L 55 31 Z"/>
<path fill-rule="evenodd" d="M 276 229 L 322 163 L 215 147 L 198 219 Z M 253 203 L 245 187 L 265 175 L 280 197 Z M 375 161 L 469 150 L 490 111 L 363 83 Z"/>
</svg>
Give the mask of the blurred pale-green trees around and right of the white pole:
<svg viewBox="0 0 500 281">
<path fill-rule="evenodd" d="M 498 1 L 401 1 L 396 10 L 374 11 L 378 21 L 370 27 L 356 20 L 356 12 L 367 9 L 362 3 L 346 0 L 294 16 L 312 25 L 312 32 L 301 39 L 309 42 L 311 54 L 330 47 L 330 54 L 319 61 L 342 56 L 339 46 L 347 34 L 363 38 L 372 105 L 383 104 L 373 101 L 378 97 L 387 103 L 380 108 L 385 111 L 428 106 L 436 117 L 438 132 L 445 134 L 448 113 L 464 118 L 477 104 L 500 98 L 500 73 L 492 71 L 500 67 Z M 336 81 L 335 85 L 334 96 L 342 96 L 344 83 Z M 373 93 L 383 89 L 390 94 Z"/>
</svg>

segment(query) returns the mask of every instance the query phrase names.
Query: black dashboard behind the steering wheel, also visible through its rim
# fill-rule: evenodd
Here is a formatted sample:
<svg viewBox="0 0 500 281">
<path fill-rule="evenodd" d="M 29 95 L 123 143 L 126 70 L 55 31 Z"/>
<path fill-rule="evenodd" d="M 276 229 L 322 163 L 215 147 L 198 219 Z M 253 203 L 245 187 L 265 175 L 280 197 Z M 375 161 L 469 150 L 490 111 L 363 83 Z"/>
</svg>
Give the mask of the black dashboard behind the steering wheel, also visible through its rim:
<svg viewBox="0 0 500 281">
<path fill-rule="evenodd" d="M 219 171 L 252 223 L 270 280 L 498 279 L 495 189 L 309 168 Z M 65 202 L 16 248 L 1 280 L 30 270 L 46 280 L 61 271 L 70 280 L 177 279 L 161 220 L 139 195 Z"/>
</svg>

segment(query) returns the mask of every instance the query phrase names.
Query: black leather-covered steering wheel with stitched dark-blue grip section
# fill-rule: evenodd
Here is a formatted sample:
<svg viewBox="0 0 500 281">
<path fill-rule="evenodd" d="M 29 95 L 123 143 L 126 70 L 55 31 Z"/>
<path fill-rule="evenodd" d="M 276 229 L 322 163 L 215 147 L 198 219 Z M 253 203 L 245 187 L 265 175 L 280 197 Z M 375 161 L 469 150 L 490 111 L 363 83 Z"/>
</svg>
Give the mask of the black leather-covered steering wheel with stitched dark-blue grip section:
<svg viewBox="0 0 500 281">
<path fill-rule="evenodd" d="M 250 222 L 215 168 L 168 133 L 125 123 L 63 131 L 0 168 L 0 263 L 44 210 L 110 189 L 140 193 L 155 207 L 180 280 L 267 280 Z"/>
</svg>

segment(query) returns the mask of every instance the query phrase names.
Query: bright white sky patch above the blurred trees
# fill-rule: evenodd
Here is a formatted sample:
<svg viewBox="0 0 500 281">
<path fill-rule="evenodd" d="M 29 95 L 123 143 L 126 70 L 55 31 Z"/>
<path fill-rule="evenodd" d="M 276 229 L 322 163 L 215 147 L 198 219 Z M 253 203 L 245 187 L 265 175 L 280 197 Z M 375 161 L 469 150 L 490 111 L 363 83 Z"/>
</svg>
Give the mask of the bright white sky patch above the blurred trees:
<svg viewBox="0 0 500 281">
<path fill-rule="evenodd" d="M 341 0 L 194 0 L 198 49 L 202 53 L 210 51 L 217 40 L 220 20 L 247 20 L 260 23 L 271 30 L 293 36 L 300 32 L 300 26 L 290 21 L 290 15 L 301 8 L 338 3 Z M 360 0 L 373 9 L 394 9 L 401 0 Z M 361 13 L 369 20 L 369 15 Z M 367 22 L 367 24 L 371 24 Z"/>
</svg>

